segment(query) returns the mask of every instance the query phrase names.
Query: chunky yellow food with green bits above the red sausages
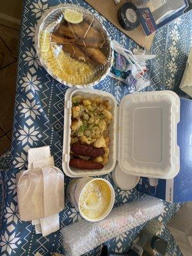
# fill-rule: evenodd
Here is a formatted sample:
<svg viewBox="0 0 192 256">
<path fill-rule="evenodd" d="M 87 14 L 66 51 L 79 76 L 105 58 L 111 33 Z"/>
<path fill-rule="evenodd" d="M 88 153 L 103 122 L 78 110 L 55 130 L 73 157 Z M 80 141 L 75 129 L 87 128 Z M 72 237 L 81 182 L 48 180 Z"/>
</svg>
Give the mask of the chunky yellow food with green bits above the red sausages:
<svg viewBox="0 0 192 256">
<path fill-rule="evenodd" d="M 108 100 L 101 97 L 85 99 L 81 95 L 72 97 L 71 144 L 79 141 L 81 144 L 103 147 L 104 155 L 92 157 L 97 163 L 108 163 L 109 130 L 113 116 Z"/>
</svg>

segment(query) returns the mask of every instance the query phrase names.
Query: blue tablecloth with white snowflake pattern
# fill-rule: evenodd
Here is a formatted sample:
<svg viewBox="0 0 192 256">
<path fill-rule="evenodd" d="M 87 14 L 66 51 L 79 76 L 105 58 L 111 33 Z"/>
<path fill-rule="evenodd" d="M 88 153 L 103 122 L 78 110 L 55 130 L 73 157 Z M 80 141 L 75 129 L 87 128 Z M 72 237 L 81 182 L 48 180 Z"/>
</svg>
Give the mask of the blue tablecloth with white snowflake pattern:
<svg viewBox="0 0 192 256">
<path fill-rule="evenodd" d="M 100 22 L 106 26 L 112 39 L 118 40 L 127 49 L 136 47 L 127 36 L 109 23 L 104 17 L 93 10 L 83 0 L 60 1 L 60 0 L 25 0 L 22 15 L 22 28 L 20 33 L 20 51 L 17 76 L 17 94 L 15 98 L 15 115 L 13 124 L 12 152 L 7 152 L 0 157 L 1 177 L 1 240 L 0 251 L 2 256 L 27 256 L 51 255 L 52 252 L 63 252 L 61 246 L 60 232 L 55 232 L 47 237 L 35 234 L 35 228 L 30 221 L 20 221 L 17 208 L 17 192 L 15 186 L 15 173 L 23 170 L 26 166 L 26 152 L 31 147 L 51 145 L 51 152 L 55 164 L 61 168 L 62 146 L 63 146 L 63 100 L 67 86 L 52 79 L 41 67 L 34 47 L 34 33 L 37 20 L 42 13 L 60 3 L 80 4 L 99 17 Z M 152 86 L 145 90 L 175 90 L 179 92 L 178 86 L 184 65 L 186 63 L 192 35 L 192 15 L 188 13 L 156 33 L 151 52 L 157 54 L 157 58 L 148 63 Z M 134 90 L 124 86 L 118 81 L 106 77 L 104 81 L 97 84 L 95 89 L 105 90 L 115 95 L 120 102 L 127 93 Z M 180 93 L 180 92 L 179 92 Z M 110 180 L 111 174 L 104 175 Z M 65 177 L 65 189 L 68 184 Z M 114 186 L 114 184 L 113 184 Z M 143 194 L 132 189 L 121 191 L 115 188 L 115 206 L 136 200 Z M 159 220 L 167 223 L 178 211 L 180 204 L 165 203 L 164 213 Z M 60 226 L 65 227 L 81 216 L 72 207 L 67 198 L 65 199 L 65 210 L 60 213 Z M 142 227 L 134 228 L 125 234 L 115 237 L 107 244 L 110 250 L 125 252 L 132 240 L 138 236 Z M 164 226 L 159 235 L 164 237 L 168 243 L 168 256 L 181 255 L 172 235 Z M 99 255 L 100 246 L 86 255 Z"/>
</svg>

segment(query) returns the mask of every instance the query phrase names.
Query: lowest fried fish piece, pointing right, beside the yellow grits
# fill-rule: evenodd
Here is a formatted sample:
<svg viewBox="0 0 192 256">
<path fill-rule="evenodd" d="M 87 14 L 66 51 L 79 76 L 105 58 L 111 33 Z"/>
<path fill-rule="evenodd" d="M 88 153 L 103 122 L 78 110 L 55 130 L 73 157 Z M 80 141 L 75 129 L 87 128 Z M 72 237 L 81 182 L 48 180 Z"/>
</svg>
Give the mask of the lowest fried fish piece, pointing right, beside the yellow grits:
<svg viewBox="0 0 192 256">
<path fill-rule="evenodd" d="M 97 61 L 97 63 L 104 65 L 107 62 L 106 56 L 100 51 L 99 49 L 92 48 L 92 47 L 81 47 L 82 51 L 88 56 L 89 58 L 92 58 L 94 61 Z"/>
</svg>

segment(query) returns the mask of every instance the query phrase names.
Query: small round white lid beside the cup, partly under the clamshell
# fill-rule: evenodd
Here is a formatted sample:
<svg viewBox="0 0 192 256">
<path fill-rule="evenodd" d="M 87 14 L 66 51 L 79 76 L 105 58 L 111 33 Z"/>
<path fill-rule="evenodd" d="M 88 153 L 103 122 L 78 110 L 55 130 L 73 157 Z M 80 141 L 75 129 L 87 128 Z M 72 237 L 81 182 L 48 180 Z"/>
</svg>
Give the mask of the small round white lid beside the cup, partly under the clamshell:
<svg viewBox="0 0 192 256">
<path fill-rule="evenodd" d="M 123 172 L 118 164 L 112 172 L 112 177 L 115 186 L 122 190 L 130 190 L 140 181 L 140 177 Z"/>
</svg>

